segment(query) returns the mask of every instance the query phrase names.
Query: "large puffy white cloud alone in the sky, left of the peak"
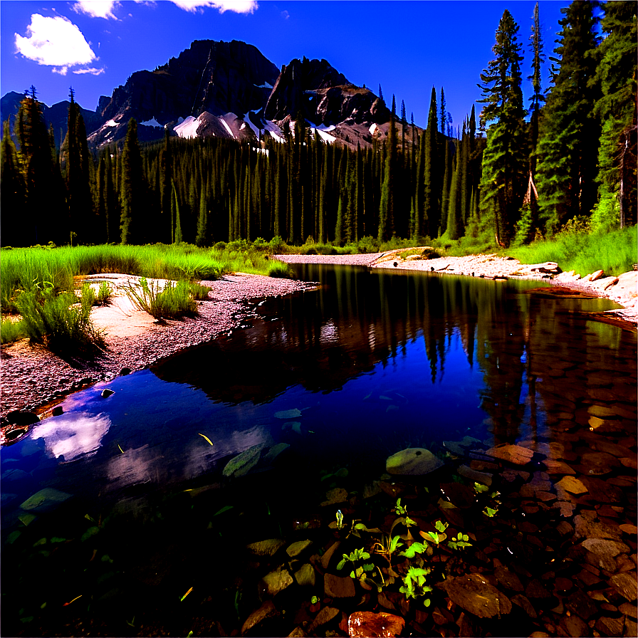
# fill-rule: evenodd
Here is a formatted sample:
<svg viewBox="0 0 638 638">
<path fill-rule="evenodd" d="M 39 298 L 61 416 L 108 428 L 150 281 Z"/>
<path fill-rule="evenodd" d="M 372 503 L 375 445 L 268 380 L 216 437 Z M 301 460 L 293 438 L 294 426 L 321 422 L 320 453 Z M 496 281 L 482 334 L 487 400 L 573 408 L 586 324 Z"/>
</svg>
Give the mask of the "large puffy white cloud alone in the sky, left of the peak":
<svg viewBox="0 0 638 638">
<path fill-rule="evenodd" d="M 96 59 L 82 31 L 62 16 L 46 18 L 33 14 L 26 33 L 27 36 L 15 34 L 18 52 L 38 64 L 61 67 L 56 73 L 64 75 L 65 67 L 88 64 Z"/>
</svg>

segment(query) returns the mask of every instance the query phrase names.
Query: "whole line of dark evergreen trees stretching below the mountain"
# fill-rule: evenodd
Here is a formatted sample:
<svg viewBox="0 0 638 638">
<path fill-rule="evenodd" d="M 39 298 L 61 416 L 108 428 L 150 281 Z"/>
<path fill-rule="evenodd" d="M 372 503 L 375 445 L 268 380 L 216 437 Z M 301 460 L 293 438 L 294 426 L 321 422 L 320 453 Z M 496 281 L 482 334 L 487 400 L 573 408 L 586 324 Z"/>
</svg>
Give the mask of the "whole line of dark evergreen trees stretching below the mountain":
<svg viewBox="0 0 638 638">
<path fill-rule="evenodd" d="M 523 46 L 504 11 L 494 59 L 481 73 L 483 109 L 451 136 L 444 91 L 432 88 L 419 132 L 392 98 L 385 140 L 351 149 L 323 142 L 299 114 L 272 137 L 140 145 L 130 120 L 122 147 L 92 155 L 70 92 L 58 149 L 33 87 L 1 144 L 5 246 L 83 243 L 211 246 L 235 239 L 345 244 L 372 236 L 493 237 L 525 243 L 587 218 L 593 228 L 636 223 L 636 5 L 575 0 L 543 90 L 538 4 L 530 35 L 533 87 L 523 104 Z M 597 34 L 597 21 L 605 38 Z M 529 115 L 529 121 L 525 116 Z M 409 136 L 406 143 L 406 135 Z"/>
</svg>

